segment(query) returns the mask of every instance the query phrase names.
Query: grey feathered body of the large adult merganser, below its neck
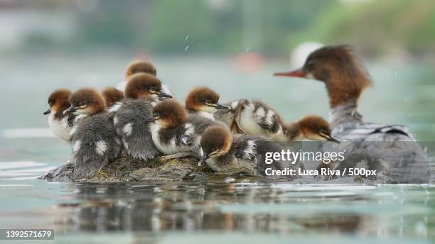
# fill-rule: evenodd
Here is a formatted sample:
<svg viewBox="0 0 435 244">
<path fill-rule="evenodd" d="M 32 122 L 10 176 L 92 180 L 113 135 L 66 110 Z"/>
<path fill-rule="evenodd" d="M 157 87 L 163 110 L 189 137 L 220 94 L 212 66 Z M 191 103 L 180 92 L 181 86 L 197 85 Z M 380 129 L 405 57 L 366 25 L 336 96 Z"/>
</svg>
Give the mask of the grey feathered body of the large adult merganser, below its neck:
<svg viewBox="0 0 435 244">
<path fill-rule="evenodd" d="M 364 158 L 368 168 L 391 177 L 391 182 L 429 182 L 431 171 L 428 157 L 406 126 L 348 123 L 334 128 L 332 135 L 342 143 L 325 143 L 323 151 L 346 150 L 350 158 L 357 158 L 355 155 L 358 155 Z M 339 162 L 336 167 L 357 167 L 361 161 L 346 160 Z"/>
</svg>

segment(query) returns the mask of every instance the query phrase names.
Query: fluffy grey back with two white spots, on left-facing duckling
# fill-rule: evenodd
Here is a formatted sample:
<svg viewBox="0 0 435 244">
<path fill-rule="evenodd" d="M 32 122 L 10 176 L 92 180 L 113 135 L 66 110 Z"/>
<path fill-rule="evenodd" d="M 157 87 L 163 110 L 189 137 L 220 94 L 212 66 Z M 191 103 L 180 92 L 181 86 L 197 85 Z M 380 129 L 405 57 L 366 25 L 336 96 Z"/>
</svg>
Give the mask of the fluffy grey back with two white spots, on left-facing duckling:
<svg viewBox="0 0 435 244">
<path fill-rule="evenodd" d="M 71 162 L 74 164 L 74 179 L 94 176 L 122 151 L 122 143 L 108 113 L 78 121 L 70 143 L 73 147 Z"/>
</svg>

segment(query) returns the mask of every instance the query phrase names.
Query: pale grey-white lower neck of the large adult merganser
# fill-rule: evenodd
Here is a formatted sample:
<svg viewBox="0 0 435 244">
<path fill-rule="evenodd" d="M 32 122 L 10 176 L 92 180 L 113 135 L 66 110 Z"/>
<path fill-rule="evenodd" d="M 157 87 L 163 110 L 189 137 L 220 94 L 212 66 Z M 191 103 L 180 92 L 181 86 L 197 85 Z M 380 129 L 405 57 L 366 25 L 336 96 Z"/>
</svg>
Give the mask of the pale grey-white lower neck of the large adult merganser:
<svg viewBox="0 0 435 244">
<path fill-rule="evenodd" d="M 333 107 L 329 118 L 332 129 L 345 123 L 363 123 L 363 116 L 358 112 L 355 101 Z"/>
</svg>

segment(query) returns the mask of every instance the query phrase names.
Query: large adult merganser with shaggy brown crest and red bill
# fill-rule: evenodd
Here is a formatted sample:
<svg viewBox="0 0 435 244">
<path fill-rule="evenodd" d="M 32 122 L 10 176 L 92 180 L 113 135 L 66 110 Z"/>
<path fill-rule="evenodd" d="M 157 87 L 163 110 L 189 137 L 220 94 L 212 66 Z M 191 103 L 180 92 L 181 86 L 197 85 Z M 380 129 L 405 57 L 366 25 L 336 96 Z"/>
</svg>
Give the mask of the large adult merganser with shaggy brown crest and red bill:
<svg viewBox="0 0 435 244">
<path fill-rule="evenodd" d="M 429 181 L 430 169 L 426 153 L 418 143 L 404 143 L 415 141 L 407 126 L 381 125 L 363 121 L 363 116 L 358 112 L 358 99 L 363 90 L 370 87 L 370 75 L 354 57 L 350 46 L 332 45 L 318 48 L 308 55 L 304 66 L 300 69 L 274 75 L 317 79 L 324 82 L 331 106 L 332 135 L 340 140 L 358 142 L 352 143 L 353 145 L 350 146 L 354 148 L 349 151 L 367 150 L 381 155 L 390 163 L 390 167 L 379 164 L 378 170 L 392 169 L 392 172 L 387 174 L 391 173 L 394 182 Z M 363 144 L 363 142 L 367 143 Z M 369 163 L 377 161 L 368 160 Z M 335 167 L 344 167 L 343 165 L 345 164 L 338 163 Z M 368 167 L 376 168 L 376 165 L 368 165 Z"/>
</svg>

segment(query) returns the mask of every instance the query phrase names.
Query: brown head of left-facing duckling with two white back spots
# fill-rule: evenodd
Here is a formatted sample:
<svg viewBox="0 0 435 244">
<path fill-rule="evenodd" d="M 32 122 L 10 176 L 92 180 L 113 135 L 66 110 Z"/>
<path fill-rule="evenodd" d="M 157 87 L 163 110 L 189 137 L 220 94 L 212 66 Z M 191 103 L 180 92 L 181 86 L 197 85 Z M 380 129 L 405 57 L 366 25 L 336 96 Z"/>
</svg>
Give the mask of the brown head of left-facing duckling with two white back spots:
<svg viewBox="0 0 435 244">
<path fill-rule="evenodd" d="M 104 111 L 104 99 L 100 92 L 92 88 L 82 88 L 70 96 L 71 106 L 63 113 L 92 115 Z"/>
</svg>

